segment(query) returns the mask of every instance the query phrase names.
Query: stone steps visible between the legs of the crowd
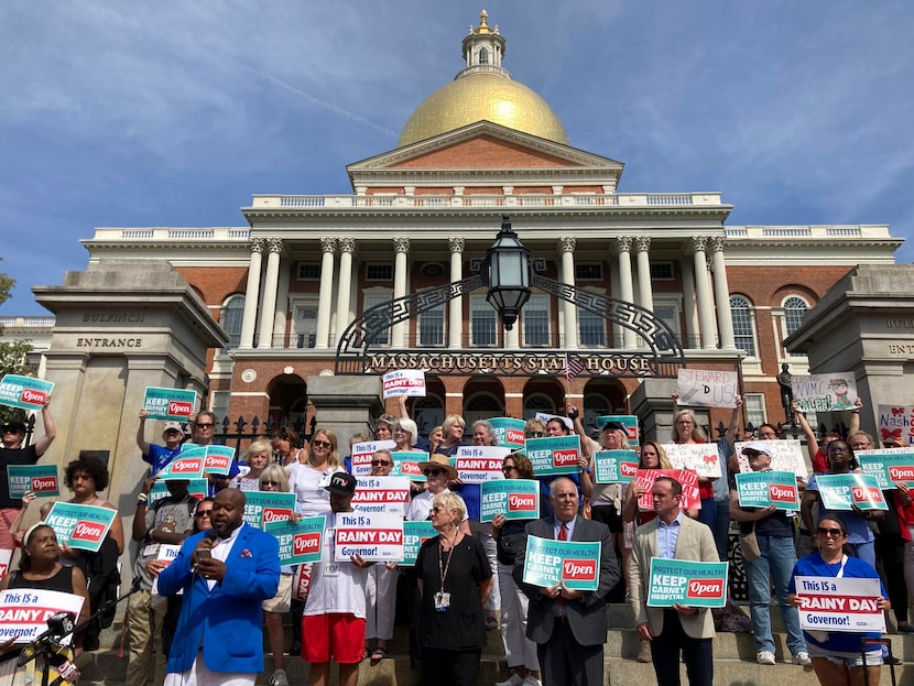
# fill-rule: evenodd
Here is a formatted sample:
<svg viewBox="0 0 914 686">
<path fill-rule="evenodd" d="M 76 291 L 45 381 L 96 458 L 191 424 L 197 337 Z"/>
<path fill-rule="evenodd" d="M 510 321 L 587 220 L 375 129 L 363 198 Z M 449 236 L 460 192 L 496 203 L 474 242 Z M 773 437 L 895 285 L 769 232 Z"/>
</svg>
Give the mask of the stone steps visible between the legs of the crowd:
<svg viewBox="0 0 914 686">
<path fill-rule="evenodd" d="M 791 654 L 786 649 L 780 612 L 772 608 L 772 629 L 775 633 L 776 658 L 774 666 L 762 666 L 755 662 L 755 643 L 749 633 L 718 633 L 715 639 L 715 684 L 720 686 L 817 686 L 812 668 L 790 664 Z M 624 605 L 607 606 L 609 634 L 606 644 L 606 684 L 631 685 L 652 684 L 653 666 L 634 661 L 639 651 L 638 635 L 631 610 Z M 487 632 L 488 644 L 482 651 L 479 686 L 491 686 L 508 676 L 501 635 L 498 631 Z M 897 684 L 914 686 L 914 635 L 893 633 L 889 635 L 895 655 L 903 661 L 895 667 Z M 120 641 L 120 618 L 102 633 L 101 650 L 80 657 L 83 678 L 80 685 L 120 686 L 127 669 L 127 657 L 118 657 Z M 287 636 L 287 643 L 291 639 Z M 359 686 L 418 686 L 421 674 L 410 669 L 407 655 L 409 638 L 404 627 L 398 627 L 390 642 L 390 657 L 379 662 L 366 660 L 359 667 Z M 113 647 L 111 647 L 113 646 Z M 285 657 L 285 671 L 294 686 L 307 684 L 308 665 L 301 657 Z M 272 661 L 266 656 L 266 669 L 258 677 L 258 684 L 266 684 L 272 673 Z M 682 669 L 683 684 L 687 684 L 685 667 Z M 336 685 L 337 672 L 331 671 L 330 684 Z M 883 667 L 880 686 L 892 684 L 888 667 Z M 428 685 L 434 686 L 434 685 Z M 873 684 L 873 686 L 875 686 Z"/>
</svg>

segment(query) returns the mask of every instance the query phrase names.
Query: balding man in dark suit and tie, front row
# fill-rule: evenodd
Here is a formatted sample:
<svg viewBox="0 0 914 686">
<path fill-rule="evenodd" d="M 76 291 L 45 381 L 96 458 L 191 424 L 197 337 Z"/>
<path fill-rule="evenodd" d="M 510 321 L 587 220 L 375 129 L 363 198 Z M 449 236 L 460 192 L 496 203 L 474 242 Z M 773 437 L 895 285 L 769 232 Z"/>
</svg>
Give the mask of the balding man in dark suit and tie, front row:
<svg viewBox="0 0 914 686">
<path fill-rule="evenodd" d="M 619 564 L 609 527 L 578 515 L 575 482 L 559 478 L 550 486 L 553 516 L 526 525 L 514 563 L 518 587 L 530 598 L 526 638 L 536 643 L 545 686 L 599 686 L 603 683 L 606 597 L 619 581 Z M 550 588 L 524 584 L 527 536 L 556 541 L 599 541 L 600 569 L 596 591 L 557 584 Z"/>
</svg>

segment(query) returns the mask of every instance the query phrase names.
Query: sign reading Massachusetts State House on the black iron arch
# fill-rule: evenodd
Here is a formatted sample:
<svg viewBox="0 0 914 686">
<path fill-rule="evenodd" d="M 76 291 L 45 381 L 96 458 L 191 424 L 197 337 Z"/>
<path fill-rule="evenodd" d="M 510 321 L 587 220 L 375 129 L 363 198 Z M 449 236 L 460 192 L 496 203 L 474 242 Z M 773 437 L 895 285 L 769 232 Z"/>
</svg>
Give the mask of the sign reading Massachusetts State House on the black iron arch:
<svg viewBox="0 0 914 686">
<path fill-rule="evenodd" d="M 664 360 L 644 353 L 575 352 L 584 364 L 581 377 L 649 378 L 676 375 L 679 360 Z M 548 374 L 565 372 L 566 355 L 562 351 L 384 351 L 368 356 L 366 371 L 383 374 L 398 369 L 422 369 L 426 373 L 458 375 L 498 374 L 502 377 Z M 671 374 L 672 371 L 672 374 Z"/>
</svg>

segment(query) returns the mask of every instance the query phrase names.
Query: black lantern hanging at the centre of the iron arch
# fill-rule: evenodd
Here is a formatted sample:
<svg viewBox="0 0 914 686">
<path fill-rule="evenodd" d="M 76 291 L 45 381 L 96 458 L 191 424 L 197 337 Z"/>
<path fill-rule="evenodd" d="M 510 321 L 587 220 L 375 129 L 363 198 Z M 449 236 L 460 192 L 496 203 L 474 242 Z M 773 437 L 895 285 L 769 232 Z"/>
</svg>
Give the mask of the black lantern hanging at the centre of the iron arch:
<svg viewBox="0 0 914 686">
<path fill-rule="evenodd" d="M 486 301 L 498 311 L 509 331 L 530 300 L 530 251 L 511 229 L 507 215 L 501 218 L 501 231 L 486 253 L 489 270 L 489 293 Z"/>
</svg>

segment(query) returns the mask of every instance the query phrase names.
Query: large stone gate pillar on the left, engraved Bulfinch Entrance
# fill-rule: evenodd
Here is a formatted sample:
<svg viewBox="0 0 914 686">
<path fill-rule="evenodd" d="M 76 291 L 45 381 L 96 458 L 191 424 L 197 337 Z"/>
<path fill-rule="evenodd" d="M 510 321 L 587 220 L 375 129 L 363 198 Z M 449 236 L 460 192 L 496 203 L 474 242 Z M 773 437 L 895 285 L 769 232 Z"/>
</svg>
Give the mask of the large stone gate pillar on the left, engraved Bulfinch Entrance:
<svg viewBox="0 0 914 686">
<path fill-rule="evenodd" d="M 42 458 L 65 466 L 80 450 L 108 455 L 107 499 L 130 537 L 135 494 L 148 466 L 137 447 L 146 386 L 206 392 L 206 355 L 228 337 L 182 275 L 164 261 L 101 260 L 68 272 L 62 286 L 35 286 L 56 316 L 45 378 L 57 438 Z M 146 439 L 161 443 L 162 423 Z M 62 498 L 66 498 L 62 493 Z M 124 579 L 130 559 L 124 552 Z"/>
</svg>

